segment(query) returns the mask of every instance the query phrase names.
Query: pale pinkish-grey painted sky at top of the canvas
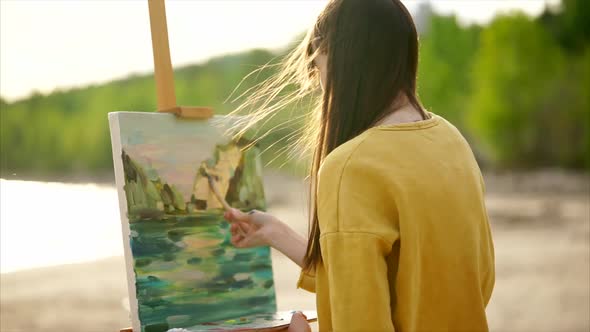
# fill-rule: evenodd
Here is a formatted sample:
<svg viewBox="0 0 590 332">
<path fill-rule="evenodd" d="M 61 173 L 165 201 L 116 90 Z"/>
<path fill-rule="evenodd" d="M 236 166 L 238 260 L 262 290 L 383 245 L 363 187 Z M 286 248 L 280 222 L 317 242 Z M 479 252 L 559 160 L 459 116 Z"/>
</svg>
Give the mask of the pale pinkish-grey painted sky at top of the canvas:
<svg viewBox="0 0 590 332">
<path fill-rule="evenodd" d="M 186 200 L 201 162 L 213 155 L 216 144 L 228 142 L 223 130 L 209 121 L 182 120 L 171 114 L 121 112 L 119 126 L 123 150 L 174 184 Z"/>
</svg>

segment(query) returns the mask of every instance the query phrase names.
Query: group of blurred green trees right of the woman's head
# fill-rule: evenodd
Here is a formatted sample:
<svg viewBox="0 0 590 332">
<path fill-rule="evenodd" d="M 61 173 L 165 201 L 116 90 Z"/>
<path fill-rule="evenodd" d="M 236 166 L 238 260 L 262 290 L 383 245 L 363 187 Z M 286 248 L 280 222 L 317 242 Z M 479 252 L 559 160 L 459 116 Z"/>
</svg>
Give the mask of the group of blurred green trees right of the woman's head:
<svg viewBox="0 0 590 332">
<path fill-rule="evenodd" d="M 488 26 L 433 16 L 421 36 L 419 94 L 490 167 L 590 168 L 590 8 L 565 0 L 537 19 Z"/>
</svg>

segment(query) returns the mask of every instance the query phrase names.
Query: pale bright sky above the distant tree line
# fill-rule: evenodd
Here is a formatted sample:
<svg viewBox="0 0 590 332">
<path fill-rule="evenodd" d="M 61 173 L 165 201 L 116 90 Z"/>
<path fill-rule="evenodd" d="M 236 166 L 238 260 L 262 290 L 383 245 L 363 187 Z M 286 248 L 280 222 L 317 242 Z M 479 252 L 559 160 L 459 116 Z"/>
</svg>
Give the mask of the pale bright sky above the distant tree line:
<svg viewBox="0 0 590 332">
<path fill-rule="evenodd" d="M 285 46 L 313 24 L 326 0 L 166 0 L 172 64 Z M 410 11 L 423 2 L 403 1 Z M 432 0 L 464 24 L 542 12 L 559 0 Z M 147 0 L 0 0 L 0 96 L 100 84 L 153 71 Z"/>
</svg>

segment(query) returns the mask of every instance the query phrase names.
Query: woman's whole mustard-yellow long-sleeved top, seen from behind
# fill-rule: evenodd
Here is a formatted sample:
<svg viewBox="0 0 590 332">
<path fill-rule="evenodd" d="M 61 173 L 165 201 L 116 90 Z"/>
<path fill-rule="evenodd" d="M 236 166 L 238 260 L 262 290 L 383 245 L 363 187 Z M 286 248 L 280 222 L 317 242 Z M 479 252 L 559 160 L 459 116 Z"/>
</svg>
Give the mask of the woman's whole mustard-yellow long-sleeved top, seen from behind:
<svg viewBox="0 0 590 332">
<path fill-rule="evenodd" d="M 494 248 L 484 184 L 459 131 L 373 127 L 324 160 L 323 262 L 300 274 L 320 331 L 487 331 Z"/>
</svg>

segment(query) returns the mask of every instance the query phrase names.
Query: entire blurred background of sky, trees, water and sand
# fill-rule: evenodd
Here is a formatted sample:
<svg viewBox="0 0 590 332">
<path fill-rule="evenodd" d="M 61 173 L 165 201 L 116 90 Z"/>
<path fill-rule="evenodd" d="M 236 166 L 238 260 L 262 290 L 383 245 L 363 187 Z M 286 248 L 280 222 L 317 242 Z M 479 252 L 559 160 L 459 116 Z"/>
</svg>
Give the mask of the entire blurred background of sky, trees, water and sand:
<svg viewBox="0 0 590 332">
<path fill-rule="evenodd" d="M 484 170 L 492 331 L 590 330 L 590 1 L 404 3 L 420 98 Z M 167 1 L 178 103 L 235 109 L 242 78 L 325 4 Z M 118 331 L 130 320 L 107 113 L 156 110 L 147 1 L 1 0 L 0 14 L 0 330 Z M 280 140 L 302 125 L 262 144 L 279 141 L 264 156 L 269 210 L 306 234 L 305 161 Z M 273 259 L 279 309 L 314 309 L 297 266 Z"/>
</svg>

